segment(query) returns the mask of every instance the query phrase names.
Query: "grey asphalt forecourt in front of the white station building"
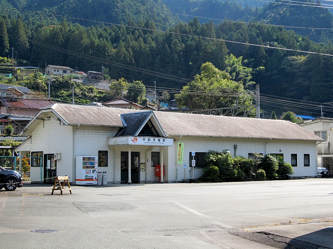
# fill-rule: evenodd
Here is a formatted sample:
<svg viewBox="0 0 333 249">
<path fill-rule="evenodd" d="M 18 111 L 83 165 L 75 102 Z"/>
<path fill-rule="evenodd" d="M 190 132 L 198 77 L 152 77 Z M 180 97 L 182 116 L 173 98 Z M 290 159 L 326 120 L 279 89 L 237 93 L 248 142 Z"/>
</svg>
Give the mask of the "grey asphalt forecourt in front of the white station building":
<svg viewBox="0 0 333 249">
<path fill-rule="evenodd" d="M 333 248 L 333 179 L 51 192 L 0 191 L 0 248 Z"/>
</svg>

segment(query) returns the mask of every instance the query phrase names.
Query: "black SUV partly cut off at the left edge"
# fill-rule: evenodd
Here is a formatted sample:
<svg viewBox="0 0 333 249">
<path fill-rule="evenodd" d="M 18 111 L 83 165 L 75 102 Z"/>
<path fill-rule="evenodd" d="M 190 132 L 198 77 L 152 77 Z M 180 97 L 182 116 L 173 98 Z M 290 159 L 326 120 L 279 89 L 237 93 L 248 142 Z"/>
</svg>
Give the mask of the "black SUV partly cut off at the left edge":
<svg viewBox="0 0 333 249">
<path fill-rule="evenodd" d="M 4 187 L 7 191 L 14 191 L 22 186 L 23 180 L 19 172 L 0 167 L 0 190 Z"/>
</svg>

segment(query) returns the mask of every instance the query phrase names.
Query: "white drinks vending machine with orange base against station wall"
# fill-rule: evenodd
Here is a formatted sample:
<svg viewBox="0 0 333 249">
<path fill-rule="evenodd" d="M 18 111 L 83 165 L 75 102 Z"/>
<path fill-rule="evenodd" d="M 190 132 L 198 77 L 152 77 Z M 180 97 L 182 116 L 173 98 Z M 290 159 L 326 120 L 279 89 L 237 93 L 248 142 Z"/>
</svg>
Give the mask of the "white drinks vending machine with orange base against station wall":
<svg viewBox="0 0 333 249">
<path fill-rule="evenodd" d="M 98 156 L 76 156 L 75 184 L 96 184 L 97 185 Z"/>
</svg>

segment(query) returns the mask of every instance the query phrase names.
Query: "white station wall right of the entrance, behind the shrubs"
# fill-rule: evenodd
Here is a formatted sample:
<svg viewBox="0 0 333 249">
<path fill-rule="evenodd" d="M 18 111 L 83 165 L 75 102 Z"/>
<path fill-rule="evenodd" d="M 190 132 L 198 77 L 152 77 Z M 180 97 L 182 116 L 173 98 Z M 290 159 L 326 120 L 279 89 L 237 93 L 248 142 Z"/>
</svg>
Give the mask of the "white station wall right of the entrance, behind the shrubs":
<svg viewBox="0 0 333 249">
<path fill-rule="evenodd" d="M 209 150 L 223 151 L 224 149 L 230 150 L 232 156 L 235 155 L 234 145 L 237 145 L 236 155 L 248 158 L 249 153 L 262 153 L 263 155 L 269 153 L 283 153 L 285 162 L 291 163 L 291 154 L 297 154 L 297 167 L 294 168 L 293 176 L 307 176 L 314 177 L 317 175 L 316 163 L 316 142 L 315 141 L 295 141 L 295 140 L 270 140 L 270 139 L 239 139 L 239 138 L 198 138 L 198 137 L 182 137 L 178 142 L 184 143 L 184 156 L 183 162 L 187 164 L 186 179 L 190 177 L 188 165 L 192 157 L 191 151 L 195 152 L 208 152 Z M 174 151 L 176 144 L 169 151 L 173 150 L 169 157 L 171 163 L 169 167 L 174 165 L 177 169 L 177 179 L 183 179 L 184 170 L 183 165 L 174 161 L 176 153 Z M 280 151 L 281 150 L 281 151 Z M 172 155 L 173 153 L 173 155 Z M 310 166 L 304 166 L 304 154 L 310 154 Z M 173 162 L 174 161 L 174 162 Z M 194 169 L 194 178 L 199 177 L 203 173 L 202 169 Z M 175 176 L 172 171 L 168 172 L 169 181 L 174 181 Z"/>
</svg>

